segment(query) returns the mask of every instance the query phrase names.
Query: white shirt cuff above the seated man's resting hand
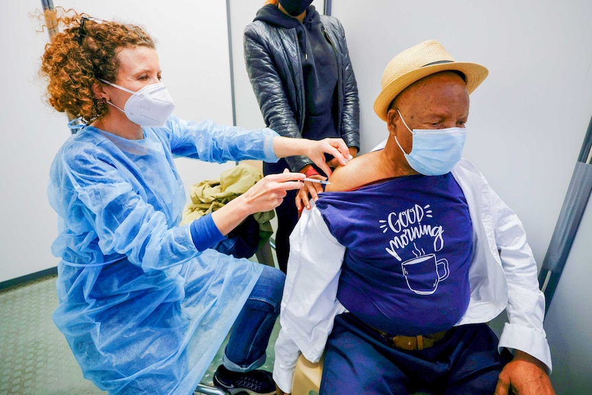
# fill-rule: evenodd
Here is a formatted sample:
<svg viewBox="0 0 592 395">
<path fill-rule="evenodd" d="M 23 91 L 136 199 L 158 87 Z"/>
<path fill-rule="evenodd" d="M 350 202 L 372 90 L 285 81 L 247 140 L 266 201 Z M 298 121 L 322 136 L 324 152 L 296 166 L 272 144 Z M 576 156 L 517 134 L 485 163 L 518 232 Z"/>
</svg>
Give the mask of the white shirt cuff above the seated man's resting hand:
<svg viewBox="0 0 592 395">
<path fill-rule="evenodd" d="M 510 350 L 521 350 L 531 357 L 545 363 L 549 368 L 549 374 L 553 369 L 551 365 L 551 350 L 545 332 L 538 332 L 525 326 L 506 323 L 503 332 L 499 337 L 498 350 L 509 348 Z"/>
</svg>

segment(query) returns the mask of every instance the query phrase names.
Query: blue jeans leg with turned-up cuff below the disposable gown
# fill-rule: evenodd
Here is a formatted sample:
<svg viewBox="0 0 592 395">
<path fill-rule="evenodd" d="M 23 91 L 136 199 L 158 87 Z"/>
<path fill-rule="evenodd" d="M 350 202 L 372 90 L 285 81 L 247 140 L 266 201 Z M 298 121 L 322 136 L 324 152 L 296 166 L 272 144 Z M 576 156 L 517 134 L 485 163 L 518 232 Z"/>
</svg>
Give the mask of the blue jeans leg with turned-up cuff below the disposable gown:
<svg viewBox="0 0 592 395">
<path fill-rule="evenodd" d="M 275 319 L 280 314 L 286 275 L 264 266 L 247 302 L 234 321 L 223 355 L 223 363 L 233 372 L 248 372 L 265 363 Z"/>
</svg>

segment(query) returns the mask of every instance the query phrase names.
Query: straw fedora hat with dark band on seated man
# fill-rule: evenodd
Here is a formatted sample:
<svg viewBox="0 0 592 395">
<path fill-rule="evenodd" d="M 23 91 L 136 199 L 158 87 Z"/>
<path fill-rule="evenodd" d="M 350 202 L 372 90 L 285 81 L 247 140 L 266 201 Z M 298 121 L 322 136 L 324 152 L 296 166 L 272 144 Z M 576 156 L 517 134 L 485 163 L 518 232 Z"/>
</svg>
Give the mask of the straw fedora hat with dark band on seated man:
<svg viewBox="0 0 592 395">
<path fill-rule="evenodd" d="M 387 121 L 389 105 L 403 89 L 430 74 L 446 70 L 457 70 L 465 75 L 468 93 L 473 93 L 489 73 L 477 63 L 455 61 L 435 40 L 424 41 L 391 59 L 380 82 L 382 90 L 374 101 L 374 112 Z"/>
</svg>

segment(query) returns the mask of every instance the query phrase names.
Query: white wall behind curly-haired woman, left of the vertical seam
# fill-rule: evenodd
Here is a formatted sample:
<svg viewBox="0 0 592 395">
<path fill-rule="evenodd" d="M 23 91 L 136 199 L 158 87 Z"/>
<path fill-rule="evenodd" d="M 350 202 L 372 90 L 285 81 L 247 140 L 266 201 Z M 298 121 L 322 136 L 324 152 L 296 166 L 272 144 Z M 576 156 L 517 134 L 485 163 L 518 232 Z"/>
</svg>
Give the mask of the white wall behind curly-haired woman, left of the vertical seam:
<svg viewBox="0 0 592 395">
<path fill-rule="evenodd" d="M 225 1 L 54 0 L 54 5 L 143 25 L 157 39 L 163 82 L 177 115 L 232 124 Z M 66 115 L 45 104 L 44 82 L 36 76 L 48 41 L 30 16 L 39 9 L 39 0 L 7 1 L 0 12 L 0 282 L 58 262 L 50 252 L 57 227 L 46 187 L 50 163 L 69 130 Z M 187 190 L 233 165 L 177 161 Z"/>
</svg>

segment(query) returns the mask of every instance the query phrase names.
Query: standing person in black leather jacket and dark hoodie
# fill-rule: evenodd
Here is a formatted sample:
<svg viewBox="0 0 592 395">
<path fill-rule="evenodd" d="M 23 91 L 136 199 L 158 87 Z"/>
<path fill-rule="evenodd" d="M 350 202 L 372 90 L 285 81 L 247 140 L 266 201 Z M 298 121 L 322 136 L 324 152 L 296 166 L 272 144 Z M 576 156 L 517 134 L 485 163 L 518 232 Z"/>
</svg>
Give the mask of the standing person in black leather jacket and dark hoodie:
<svg viewBox="0 0 592 395">
<path fill-rule="evenodd" d="M 319 15 L 312 0 L 269 0 L 244 29 L 244 60 L 269 128 L 293 139 L 341 137 L 351 157 L 360 147 L 358 88 L 343 26 L 332 16 Z M 328 157 L 330 166 L 337 162 Z M 326 179 L 309 158 L 292 156 L 264 161 L 263 174 L 289 168 L 313 179 Z M 322 188 L 306 182 L 302 194 L 313 199 Z M 275 251 L 286 272 L 289 236 L 298 221 L 297 191 L 288 192 L 275 208 Z M 308 199 L 307 199 L 308 200 Z"/>
</svg>

